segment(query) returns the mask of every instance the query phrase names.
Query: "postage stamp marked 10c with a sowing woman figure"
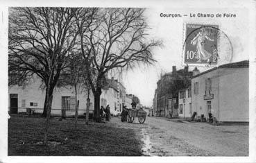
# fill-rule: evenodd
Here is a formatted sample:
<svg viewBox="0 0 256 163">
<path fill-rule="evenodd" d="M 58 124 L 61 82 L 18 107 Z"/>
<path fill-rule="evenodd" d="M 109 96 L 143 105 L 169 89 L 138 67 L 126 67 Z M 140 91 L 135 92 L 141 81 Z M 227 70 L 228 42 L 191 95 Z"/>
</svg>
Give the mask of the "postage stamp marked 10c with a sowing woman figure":
<svg viewBox="0 0 256 163">
<path fill-rule="evenodd" d="M 185 24 L 183 65 L 217 66 L 219 25 Z"/>
</svg>

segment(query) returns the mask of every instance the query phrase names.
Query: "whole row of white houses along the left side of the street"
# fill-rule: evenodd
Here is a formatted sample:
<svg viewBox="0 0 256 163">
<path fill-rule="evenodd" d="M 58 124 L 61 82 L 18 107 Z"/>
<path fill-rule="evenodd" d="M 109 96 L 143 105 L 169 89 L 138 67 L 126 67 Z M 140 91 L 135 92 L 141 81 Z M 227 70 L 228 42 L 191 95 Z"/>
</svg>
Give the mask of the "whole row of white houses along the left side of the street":
<svg viewBox="0 0 256 163">
<path fill-rule="evenodd" d="M 13 74 L 9 74 L 9 78 Z M 56 87 L 53 92 L 53 102 L 51 114 L 55 116 L 70 117 L 75 114 L 75 92 L 74 87 L 65 85 L 67 74 L 60 75 L 60 82 L 64 83 L 61 87 Z M 104 108 L 110 105 L 110 113 L 112 115 L 121 114 L 123 105 L 131 108 L 133 94 L 126 94 L 126 87 L 114 78 L 106 79 L 107 82 L 102 89 L 100 105 Z M 10 79 L 11 81 L 11 79 Z M 9 103 L 8 110 L 12 114 L 27 112 L 31 110 L 34 113 L 42 113 L 44 109 L 45 89 L 42 88 L 42 81 L 37 76 L 33 76 L 29 85 L 12 85 L 8 88 Z M 94 111 L 94 96 L 92 91 L 89 92 L 90 105 L 89 113 Z M 78 115 L 86 112 L 87 91 L 82 87 L 78 87 Z"/>
</svg>

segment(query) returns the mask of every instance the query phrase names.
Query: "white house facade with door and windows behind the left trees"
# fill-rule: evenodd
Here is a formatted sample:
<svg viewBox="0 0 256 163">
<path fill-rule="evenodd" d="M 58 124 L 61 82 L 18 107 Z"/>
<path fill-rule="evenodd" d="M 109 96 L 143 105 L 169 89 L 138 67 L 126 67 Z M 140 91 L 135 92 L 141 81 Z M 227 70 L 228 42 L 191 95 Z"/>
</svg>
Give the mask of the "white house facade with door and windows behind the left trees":
<svg viewBox="0 0 256 163">
<path fill-rule="evenodd" d="M 45 89 L 42 87 L 42 82 L 34 76 L 30 85 L 22 87 L 19 85 L 9 86 L 9 103 L 8 108 L 10 113 L 26 112 L 29 108 L 35 113 L 42 113 L 44 110 Z M 83 115 L 86 112 L 87 93 L 78 89 L 78 115 Z M 92 92 L 89 94 L 90 106 L 89 113 L 94 110 L 94 96 Z M 74 87 L 56 87 L 53 91 L 53 101 L 51 105 L 51 115 L 74 116 L 75 114 L 75 91 Z M 65 112 L 63 112 L 65 110 Z"/>
</svg>

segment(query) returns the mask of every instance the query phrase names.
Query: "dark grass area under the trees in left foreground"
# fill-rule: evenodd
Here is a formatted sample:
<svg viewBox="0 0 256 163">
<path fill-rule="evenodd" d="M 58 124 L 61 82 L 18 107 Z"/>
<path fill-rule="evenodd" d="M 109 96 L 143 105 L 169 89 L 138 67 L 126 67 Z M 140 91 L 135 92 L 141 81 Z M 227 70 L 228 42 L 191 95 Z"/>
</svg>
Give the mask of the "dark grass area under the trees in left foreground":
<svg viewBox="0 0 256 163">
<path fill-rule="evenodd" d="M 142 141 L 131 129 L 104 123 L 51 119 L 49 144 L 44 146 L 45 119 L 12 115 L 8 121 L 8 155 L 139 156 Z"/>
</svg>

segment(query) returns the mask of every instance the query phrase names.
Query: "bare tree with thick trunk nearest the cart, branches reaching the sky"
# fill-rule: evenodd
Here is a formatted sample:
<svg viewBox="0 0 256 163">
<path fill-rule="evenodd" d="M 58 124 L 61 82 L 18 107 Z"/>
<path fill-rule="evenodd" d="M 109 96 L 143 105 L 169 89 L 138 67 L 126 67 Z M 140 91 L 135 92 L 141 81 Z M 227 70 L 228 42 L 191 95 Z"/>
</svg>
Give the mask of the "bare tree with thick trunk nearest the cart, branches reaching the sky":
<svg viewBox="0 0 256 163">
<path fill-rule="evenodd" d="M 90 25 L 78 21 L 80 50 L 92 59 L 95 78 L 88 75 L 94 94 L 94 119 L 99 116 L 103 80 L 112 69 L 134 67 L 141 63 L 152 64 L 152 49 L 160 42 L 148 39 L 148 25 L 142 8 L 101 8 L 94 10 Z M 81 31 L 83 29 L 84 31 Z"/>
</svg>

